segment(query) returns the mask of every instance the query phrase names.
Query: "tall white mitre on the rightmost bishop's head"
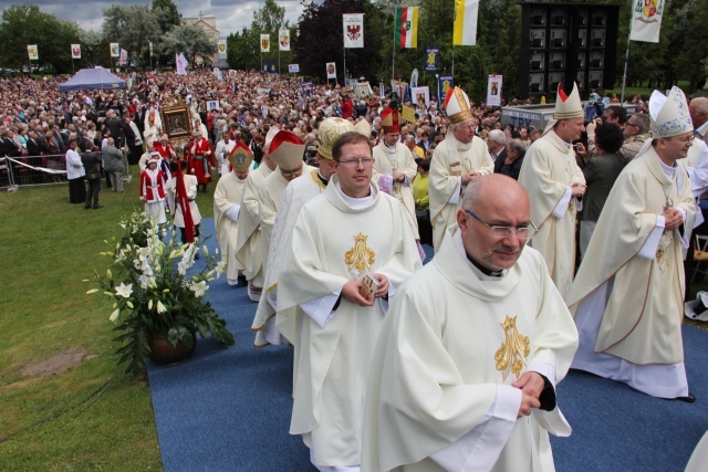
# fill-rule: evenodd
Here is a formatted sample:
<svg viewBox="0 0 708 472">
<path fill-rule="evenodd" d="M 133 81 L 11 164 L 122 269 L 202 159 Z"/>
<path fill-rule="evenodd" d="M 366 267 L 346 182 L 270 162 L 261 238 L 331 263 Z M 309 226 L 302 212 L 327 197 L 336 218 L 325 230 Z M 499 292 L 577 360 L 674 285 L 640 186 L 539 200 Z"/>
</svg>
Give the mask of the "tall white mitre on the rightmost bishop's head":
<svg viewBox="0 0 708 472">
<path fill-rule="evenodd" d="M 652 122 L 652 135 L 655 138 L 668 138 L 694 130 L 686 95 L 677 86 L 671 87 L 668 96 L 659 91 L 652 93 L 649 120 Z"/>
</svg>

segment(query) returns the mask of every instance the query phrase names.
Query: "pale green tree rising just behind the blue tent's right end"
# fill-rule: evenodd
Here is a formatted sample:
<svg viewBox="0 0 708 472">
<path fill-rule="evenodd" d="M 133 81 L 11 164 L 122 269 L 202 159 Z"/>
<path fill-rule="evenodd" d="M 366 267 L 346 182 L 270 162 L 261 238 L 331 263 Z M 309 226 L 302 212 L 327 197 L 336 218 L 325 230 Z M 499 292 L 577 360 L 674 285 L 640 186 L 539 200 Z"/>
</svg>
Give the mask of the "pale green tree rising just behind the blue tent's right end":
<svg viewBox="0 0 708 472">
<path fill-rule="evenodd" d="M 108 42 L 117 42 L 136 62 L 149 62 L 149 42 L 157 43 L 160 31 L 155 28 L 156 14 L 147 6 L 114 3 L 103 17 L 103 35 Z"/>
</svg>

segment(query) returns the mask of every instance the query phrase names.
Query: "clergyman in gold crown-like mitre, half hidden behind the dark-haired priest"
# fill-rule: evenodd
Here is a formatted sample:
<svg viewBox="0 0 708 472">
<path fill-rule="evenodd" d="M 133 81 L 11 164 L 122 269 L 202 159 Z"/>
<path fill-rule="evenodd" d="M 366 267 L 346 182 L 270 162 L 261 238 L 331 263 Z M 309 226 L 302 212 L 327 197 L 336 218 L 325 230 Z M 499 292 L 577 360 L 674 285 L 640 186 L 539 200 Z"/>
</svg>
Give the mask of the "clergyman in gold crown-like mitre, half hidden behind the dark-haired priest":
<svg viewBox="0 0 708 472">
<path fill-rule="evenodd" d="M 256 340 L 253 342 L 256 347 L 284 344 L 282 335 L 275 328 L 274 316 L 278 306 L 278 279 L 282 273 L 283 254 L 290 243 L 290 234 L 300 210 L 308 201 L 321 195 L 327 188 L 330 178 L 334 175 L 334 161 L 332 160 L 334 141 L 340 135 L 353 130 L 355 128 L 347 119 L 323 119 L 317 127 L 320 146 L 317 147 L 316 160 L 319 168 L 290 182 L 280 199 L 268 252 L 266 284 L 263 285 L 264 295 L 258 302 L 258 310 L 251 324 L 251 331 L 256 333 Z"/>
</svg>

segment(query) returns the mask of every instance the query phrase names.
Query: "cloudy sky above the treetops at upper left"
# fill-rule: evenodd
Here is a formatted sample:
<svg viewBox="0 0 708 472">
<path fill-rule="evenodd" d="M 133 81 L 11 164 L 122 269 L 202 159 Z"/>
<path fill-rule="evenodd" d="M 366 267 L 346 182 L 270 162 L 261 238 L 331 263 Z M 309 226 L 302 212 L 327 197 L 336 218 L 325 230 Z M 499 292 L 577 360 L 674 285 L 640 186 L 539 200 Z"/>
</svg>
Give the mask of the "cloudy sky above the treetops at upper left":
<svg viewBox="0 0 708 472">
<path fill-rule="evenodd" d="M 222 36 L 227 36 L 242 28 L 248 28 L 253 21 L 253 12 L 263 8 L 263 1 L 253 0 L 173 0 L 183 18 L 198 17 L 199 12 L 205 17 L 216 17 L 217 30 Z M 103 24 L 103 10 L 113 3 L 123 4 L 152 4 L 149 0 L 0 0 L 0 10 L 12 4 L 38 4 L 40 10 L 55 14 L 60 20 L 75 21 L 84 30 L 101 31 Z M 302 13 L 299 0 L 275 0 L 280 7 L 285 8 L 285 20 L 291 24 L 298 22 Z"/>
</svg>

